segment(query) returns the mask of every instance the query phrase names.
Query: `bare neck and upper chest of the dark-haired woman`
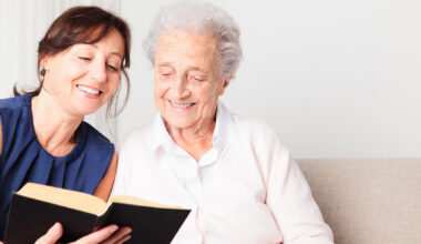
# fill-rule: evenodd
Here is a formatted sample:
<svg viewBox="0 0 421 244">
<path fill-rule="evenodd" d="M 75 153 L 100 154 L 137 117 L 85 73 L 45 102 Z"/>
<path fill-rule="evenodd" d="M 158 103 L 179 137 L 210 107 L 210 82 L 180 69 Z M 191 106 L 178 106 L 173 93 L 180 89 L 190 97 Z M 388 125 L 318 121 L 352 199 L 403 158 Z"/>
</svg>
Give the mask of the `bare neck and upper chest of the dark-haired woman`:
<svg viewBox="0 0 421 244">
<path fill-rule="evenodd" d="M 42 91 L 32 98 L 32 116 L 37 139 L 47 152 L 62 156 L 73 149 L 83 116 L 66 113 L 54 96 Z"/>
</svg>

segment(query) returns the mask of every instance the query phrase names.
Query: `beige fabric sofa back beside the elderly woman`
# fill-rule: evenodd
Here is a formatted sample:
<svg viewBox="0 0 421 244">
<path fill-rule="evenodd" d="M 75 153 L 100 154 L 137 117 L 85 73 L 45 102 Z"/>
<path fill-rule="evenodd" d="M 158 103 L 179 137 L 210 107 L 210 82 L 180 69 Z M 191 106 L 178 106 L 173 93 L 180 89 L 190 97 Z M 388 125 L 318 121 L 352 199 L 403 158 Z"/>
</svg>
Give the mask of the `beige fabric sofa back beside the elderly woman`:
<svg viewBox="0 0 421 244">
<path fill-rule="evenodd" d="M 297 161 L 336 244 L 421 244 L 421 159 Z"/>
</svg>

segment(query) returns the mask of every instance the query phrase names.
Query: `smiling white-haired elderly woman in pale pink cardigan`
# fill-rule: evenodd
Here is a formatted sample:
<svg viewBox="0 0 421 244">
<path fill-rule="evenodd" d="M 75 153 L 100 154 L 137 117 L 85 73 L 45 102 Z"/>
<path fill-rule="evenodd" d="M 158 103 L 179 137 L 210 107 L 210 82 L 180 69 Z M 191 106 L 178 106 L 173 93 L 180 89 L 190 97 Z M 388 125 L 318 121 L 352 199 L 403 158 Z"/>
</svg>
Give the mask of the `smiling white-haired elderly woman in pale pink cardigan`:
<svg viewBox="0 0 421 244">
<path fill-rule="evenodd" d="M 218 101 L 242 59 L 233 18 L 177 3 L 158 12 L 144 47 L 160 115 L 126 138 L 112 194 L 192 209 L 173 243 L 332 243 L 276 131 Z"/>
</svg>

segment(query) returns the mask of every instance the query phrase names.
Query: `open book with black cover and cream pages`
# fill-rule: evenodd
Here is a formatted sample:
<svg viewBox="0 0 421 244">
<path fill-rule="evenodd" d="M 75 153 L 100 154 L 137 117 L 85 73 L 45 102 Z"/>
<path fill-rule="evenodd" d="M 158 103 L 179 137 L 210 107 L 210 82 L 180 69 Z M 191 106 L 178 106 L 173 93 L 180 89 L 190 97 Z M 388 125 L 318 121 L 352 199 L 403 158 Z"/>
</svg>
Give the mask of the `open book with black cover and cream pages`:
<svg viewBox="0 0 421 244">
<path fill-rule="evenodd" d="M 109 224 L 132 227 L 126 243 L 170 243 L 188 213 L 132 196 L 105 203 L 86 193 L 27 183 L 12 196 L 4 243 L 34 243 L 55 222 L 63 225 L 64 243 Z"/>
</svg>

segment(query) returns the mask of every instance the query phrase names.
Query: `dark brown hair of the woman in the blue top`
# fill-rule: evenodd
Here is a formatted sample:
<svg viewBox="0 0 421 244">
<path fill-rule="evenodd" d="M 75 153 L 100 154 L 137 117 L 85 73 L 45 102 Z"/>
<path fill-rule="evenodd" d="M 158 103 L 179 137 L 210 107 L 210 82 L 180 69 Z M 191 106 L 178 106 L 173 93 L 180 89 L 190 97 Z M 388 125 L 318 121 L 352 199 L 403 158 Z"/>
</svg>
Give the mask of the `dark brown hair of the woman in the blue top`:
<svg viewBox="0 0 421 244">
<path fill-rule="evenodd" d="M 32 92 L 19 92 L 17 85 L 14 85 L 14 95 L 40 93 L 45 74 L 44 70 L 40 70 L 40 63 L 44 57 L 54 55 L 74 44 L 95 43 L 114 29 L 120 32 L 124 40 L 124 57 L 121 71 L 125 77 L 127 88 L 126 96 L 121 109 L 117 109 L 121 85 L 119 85 L 114 96 L 107 102 L 106 114 L 117 115 L 127 102 L 130 92 L 130 79 L 125 68 L 130 67 L 131 32 L 127 23 L 123 19 L 97 7 L 73 7 L 54 20 L 38 47 L 38 77 L 40 85 Z"/>
</svg>

